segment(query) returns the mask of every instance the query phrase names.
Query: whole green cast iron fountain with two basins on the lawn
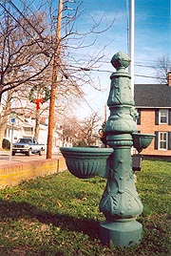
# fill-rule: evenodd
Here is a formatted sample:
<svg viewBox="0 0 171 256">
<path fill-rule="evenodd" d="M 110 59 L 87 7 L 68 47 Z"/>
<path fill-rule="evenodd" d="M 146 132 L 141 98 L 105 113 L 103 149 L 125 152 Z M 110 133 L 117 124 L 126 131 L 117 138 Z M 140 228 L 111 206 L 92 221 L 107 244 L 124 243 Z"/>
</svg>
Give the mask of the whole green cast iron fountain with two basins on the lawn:
<svg viewBox="0 0 171 256">
<path fill-rule="evenodd" d="M 142 241 L 142 224 L 136 219 L 142 214 L 142 202 L 136 190 L 132 171 L 131 147 L 139 152 L 154 135 L 137 132 L 138 113 L 131 94 L 130 75 L 125 69 L 130 58 L 116 53 L 111 63 L 117 72 L 111 78 L 107 105 L 110 110 L 104 125 L 107 148 L 61 148 L 68 170 L 78 178 L 100 176 L 107 179 L 100 201 L 105 221 L 100 224 L 104 245 L 131 246 Z"/>
</svg>

